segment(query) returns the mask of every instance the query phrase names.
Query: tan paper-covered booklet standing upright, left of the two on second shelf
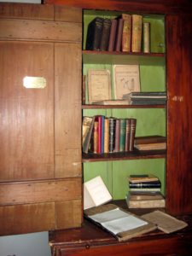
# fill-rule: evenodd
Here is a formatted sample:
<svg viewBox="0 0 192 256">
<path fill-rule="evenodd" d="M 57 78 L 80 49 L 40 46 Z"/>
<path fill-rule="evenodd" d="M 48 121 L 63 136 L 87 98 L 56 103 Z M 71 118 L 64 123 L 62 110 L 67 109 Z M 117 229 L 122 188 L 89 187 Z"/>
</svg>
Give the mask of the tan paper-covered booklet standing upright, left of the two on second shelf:
<svg viewBox="0 0 192 256">
<path fill-rule="evenodd" d="M 111 74 L 108 69 L 88 69 L 87 79 L 89 104 L 112 100 Z"/>
</svg>

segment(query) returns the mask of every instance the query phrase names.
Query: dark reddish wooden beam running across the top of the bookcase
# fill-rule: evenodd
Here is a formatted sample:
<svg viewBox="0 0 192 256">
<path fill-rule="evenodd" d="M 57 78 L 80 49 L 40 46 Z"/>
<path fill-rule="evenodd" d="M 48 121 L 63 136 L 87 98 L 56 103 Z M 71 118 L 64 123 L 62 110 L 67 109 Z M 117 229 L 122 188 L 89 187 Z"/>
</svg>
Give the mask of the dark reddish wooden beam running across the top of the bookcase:
<svg viewBox="0 0 192 256">
<path fill-rule="evenodd" d="M 192 5 L 189 0 L 139 0 L 139 1 L 125 1 L 125 0 L 44 0 L 44 3 L 68 5 L 74 7 L 81 7 L 83 9 L 104 9 L 104 10 L 118 10 L 122 12 L 142 12 L 151 14 L 188 14 L 190 15 Z"/>
</svg>

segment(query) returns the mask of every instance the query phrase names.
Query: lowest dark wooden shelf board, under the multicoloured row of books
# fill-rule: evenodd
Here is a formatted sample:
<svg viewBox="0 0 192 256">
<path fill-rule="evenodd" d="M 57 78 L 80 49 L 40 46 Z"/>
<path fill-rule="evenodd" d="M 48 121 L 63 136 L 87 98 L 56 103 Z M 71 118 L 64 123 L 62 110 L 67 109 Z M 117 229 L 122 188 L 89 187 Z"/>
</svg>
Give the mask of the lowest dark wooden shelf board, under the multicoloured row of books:
<svg viewBox="0 0 192 256">
<path fill-rule="evenodd" d="M 104 153 L 104 154 L 82 154 L 82 162 L 99 162 L 114 160 L 140 160 L 140 159 L 158 159 L 166 158 L 166 150 L 143 150 L 120 153 Z"/>
</svg>

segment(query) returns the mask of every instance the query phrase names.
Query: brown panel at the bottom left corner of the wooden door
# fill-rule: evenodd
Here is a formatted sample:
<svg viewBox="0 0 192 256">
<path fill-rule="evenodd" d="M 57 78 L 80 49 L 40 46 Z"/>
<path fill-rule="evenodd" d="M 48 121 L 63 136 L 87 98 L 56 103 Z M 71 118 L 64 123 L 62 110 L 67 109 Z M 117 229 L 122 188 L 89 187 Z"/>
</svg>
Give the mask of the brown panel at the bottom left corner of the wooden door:
<svg viewBox="0 0 192 256">
<path fill-rule="evenodd" d="M 55 230 L 55 203 L 0 207 L 0 236 Z"/>
</svg>

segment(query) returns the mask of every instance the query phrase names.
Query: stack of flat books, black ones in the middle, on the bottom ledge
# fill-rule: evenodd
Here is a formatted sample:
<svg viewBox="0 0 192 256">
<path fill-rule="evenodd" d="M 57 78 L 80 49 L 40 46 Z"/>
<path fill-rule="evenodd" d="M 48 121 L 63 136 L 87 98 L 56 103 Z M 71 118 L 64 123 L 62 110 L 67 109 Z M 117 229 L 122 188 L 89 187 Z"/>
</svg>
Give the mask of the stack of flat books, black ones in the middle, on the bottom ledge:
<svg viewBox="0 0 192 256">
<path fill-rule="evenodd" d="M 130 175 L 130 191 L 125 196 L 129 208 L 156 208 L 165 207 L 166 201 L 160 193 L 161 183 L 158 177 L 148 175 Z"/>
</svg>

